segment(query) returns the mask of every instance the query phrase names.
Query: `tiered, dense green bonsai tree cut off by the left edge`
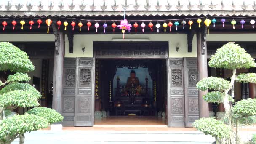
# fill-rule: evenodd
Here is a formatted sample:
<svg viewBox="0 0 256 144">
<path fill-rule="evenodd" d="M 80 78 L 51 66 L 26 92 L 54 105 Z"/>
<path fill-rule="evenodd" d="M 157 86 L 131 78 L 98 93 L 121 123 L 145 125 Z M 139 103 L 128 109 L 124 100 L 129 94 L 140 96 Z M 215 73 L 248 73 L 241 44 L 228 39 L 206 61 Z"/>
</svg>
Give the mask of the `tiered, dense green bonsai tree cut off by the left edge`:
<svg viewBox="0 0 256 144">
<path fill-rule="evenodd" d="M 6 81 L 0 81 L 0 143 L 10 144 L 14 139 L 24 143 L 24 133 L 47 128 L 49 124 L 63 120 L 53 109 L 38 107 L 41 94 L 29 85 L 26 72 L 35 70 L 27 53 L 11 43 L 0 43 L 0 71 L 11 72 Z M 17 107 L 35 107 L 26 114 L 3 119 L 4 111 Z"/>
</svg>

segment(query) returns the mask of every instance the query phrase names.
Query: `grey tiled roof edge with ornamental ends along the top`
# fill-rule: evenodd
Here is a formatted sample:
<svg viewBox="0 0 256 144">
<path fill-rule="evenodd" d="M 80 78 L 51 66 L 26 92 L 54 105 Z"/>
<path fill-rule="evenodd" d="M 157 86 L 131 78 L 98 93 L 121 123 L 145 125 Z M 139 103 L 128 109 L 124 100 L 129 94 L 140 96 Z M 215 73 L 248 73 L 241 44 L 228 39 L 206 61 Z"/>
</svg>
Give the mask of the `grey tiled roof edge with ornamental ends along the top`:
<svg viewBox="0 0 256 144">
<path fill-rule="evenodd" d="M 254 16 L 255 0 L 0 0 L 2 16 Z M 139 11 L 139 12 L 138 12 Z"/>
</svg>

